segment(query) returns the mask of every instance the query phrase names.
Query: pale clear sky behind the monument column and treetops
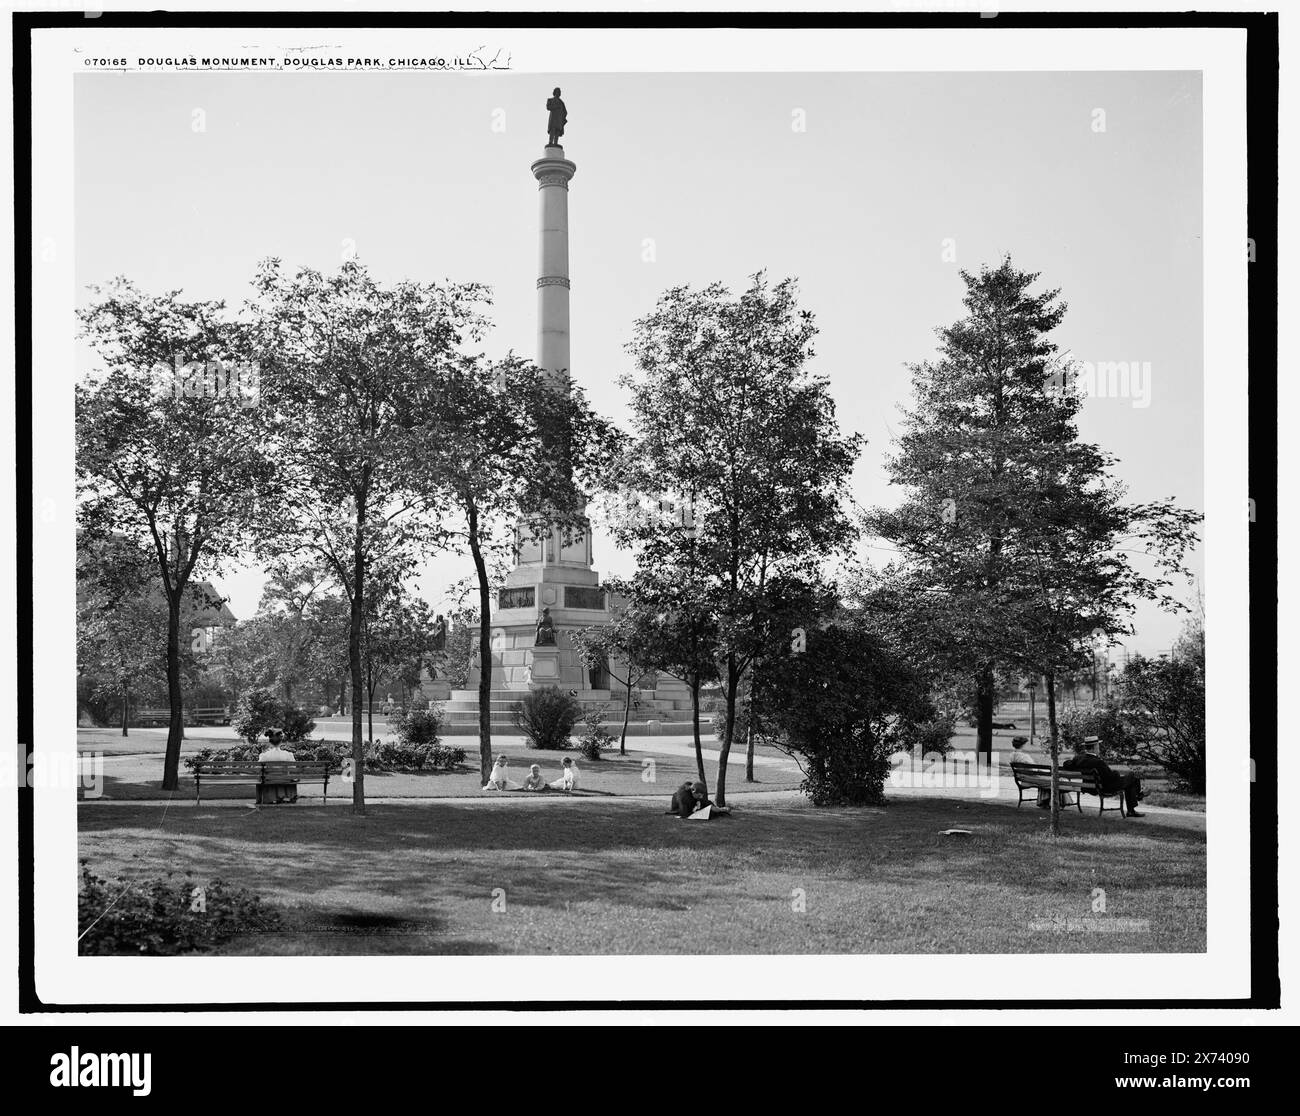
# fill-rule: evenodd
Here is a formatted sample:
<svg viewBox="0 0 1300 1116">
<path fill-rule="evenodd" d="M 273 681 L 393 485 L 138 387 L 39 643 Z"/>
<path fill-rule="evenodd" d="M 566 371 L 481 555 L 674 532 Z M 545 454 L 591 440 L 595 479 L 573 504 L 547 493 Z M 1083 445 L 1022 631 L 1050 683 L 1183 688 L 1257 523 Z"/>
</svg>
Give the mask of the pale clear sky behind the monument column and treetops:
<svg viewBox="0 0 1300 1116">
<path fill-rule="evenodd" d="M 82 74 L 78 304 L 125 274 L 238 306 L 266 256 L 334 269 L 355 251 L 382 281 L 486 284 L 485 350 L 532 358 L 529 164 L 555 85 L 577 164 L 572 376 L 597 410 L 627 419 L 624 346 L 663 290 L 794 276 L 811 367 L 867 438 L 854 497 L 894 503 L 881 462 L 906 365 L 961 316 L 959 269 L 1009 252 L 1061 289 L 1062 350 L 1149 364 L 1149 397 L 1087 399 L 1080 436 L 1119 459 L 1130 498 L 1202 509 L 1199 73 Z M 630 572 L 594 545 L 602 574 Z M 419 588 L 442 607 L 471 571 L 439 555 Z M 259 571 L 214 580 L 255 611 Z M 1182 623 L 1150 606 L 1135 622 L 1143 652 Z"/>
</svg>

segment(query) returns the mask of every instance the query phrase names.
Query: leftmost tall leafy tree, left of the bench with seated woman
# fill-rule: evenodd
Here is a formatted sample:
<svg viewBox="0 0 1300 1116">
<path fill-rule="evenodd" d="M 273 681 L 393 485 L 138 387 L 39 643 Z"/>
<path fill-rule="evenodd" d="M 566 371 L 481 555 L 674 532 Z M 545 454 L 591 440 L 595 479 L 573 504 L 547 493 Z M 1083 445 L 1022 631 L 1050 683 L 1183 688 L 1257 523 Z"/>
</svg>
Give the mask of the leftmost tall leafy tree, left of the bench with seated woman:
<svg viewBox="0 0 1300 1116">
<path fill-rule="evenodd" d="M 78 317 L 103 369 L 75 389 L 78 523 L 122 533 L 157 563 L 170 705 L 162 790 L 174 791 L 182 606 L 191 584 L 247 550 L 250 494 L 272 483 L 255 436 L 257 377 L 224 303 L 146 295 L 125 278 L 91 290 Z"/>
</svg>

